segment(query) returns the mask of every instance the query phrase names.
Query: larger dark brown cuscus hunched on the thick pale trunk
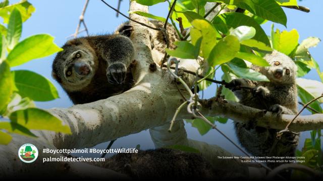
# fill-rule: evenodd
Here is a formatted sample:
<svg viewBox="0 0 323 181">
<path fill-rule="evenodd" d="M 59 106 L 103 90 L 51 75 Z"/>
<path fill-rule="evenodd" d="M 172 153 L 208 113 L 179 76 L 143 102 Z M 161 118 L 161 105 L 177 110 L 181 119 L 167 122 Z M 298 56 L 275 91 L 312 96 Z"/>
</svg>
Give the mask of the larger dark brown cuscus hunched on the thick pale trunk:
<svg viewBox="0 0 323 181">
<path fill-rule="evenodd" d="M 127 37 L 132 27 L 121 27 L 119 35 L 88 36 L 69 40 L 52 64 L 52 76 L 74 104 L 106 99 L 131 88 L 129 65 L 134 47 Z M 127 36 L 124 36 L 127 35 Z M 76 54 L 80 58 L 76 58 Z M 87 75 L 75 71 L 75 64 L 89 68 Z M 128 69 L 127 69 L 128 68 Z M 88 70 L 88 69 L 87 69 Z M 67 75 L 71 73 L 71 75 Z"/>
</svg>

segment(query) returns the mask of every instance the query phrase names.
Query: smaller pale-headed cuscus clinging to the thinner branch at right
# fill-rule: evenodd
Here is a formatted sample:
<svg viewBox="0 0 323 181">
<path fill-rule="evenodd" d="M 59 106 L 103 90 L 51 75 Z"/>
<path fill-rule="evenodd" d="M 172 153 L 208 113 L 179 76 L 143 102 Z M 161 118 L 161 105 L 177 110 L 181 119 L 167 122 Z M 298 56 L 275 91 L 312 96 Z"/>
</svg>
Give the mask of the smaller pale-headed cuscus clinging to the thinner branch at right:
<svg viewBox="0 0 323 181">
<path fill-rule="evenodd" d="M 252 69 L 266 75 L 270 82 L 251 81 L 242 78 L 230 82 L 231 87 L 236 85 L 254 87 L 252 91 L 250 89 L 231 88 L 239 99 L 239 103 L 260 110 L 275 112 L 277 116 L 297 114 L 297 86 L 295 83 L 297 67 L 295 63 L 290 57 L 278 51 L 267 54 L 264 59 L 271 66 L 259 67 L 253 65 Z M 275 62 L 279 62 L 280 65 L 275 65 Z M 277 74 L 277 72 L 282 72 L 282 76 L 280 77 L 280 73 Z M 276 133 L 279 130 L 255 127 L 254 125 L 255 123 L 252 120 L 248 124 L 235 123 L 237 137 L 248 152 L 255 156 L 295 156 L 298 144 L 297 135 L 285 133 L 273 147 L 277 140 Z M 271 167 L 277 165 L 268 164 Z"/>
</svg>

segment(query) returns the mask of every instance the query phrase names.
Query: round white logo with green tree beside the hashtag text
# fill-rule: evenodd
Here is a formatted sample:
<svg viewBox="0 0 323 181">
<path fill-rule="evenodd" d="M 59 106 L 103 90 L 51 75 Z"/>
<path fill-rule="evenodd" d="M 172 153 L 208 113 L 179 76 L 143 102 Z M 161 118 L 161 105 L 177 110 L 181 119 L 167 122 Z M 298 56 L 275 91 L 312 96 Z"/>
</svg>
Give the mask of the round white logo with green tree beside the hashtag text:
<svg viewBox="0 0 323 181">
<path fill-rule="evenodd" d="M 18 150 L 18 156 L 21 161 L 31 163 L 38 157 L 38 149 L 33 144 L 24 144 Z"/>
</svg>

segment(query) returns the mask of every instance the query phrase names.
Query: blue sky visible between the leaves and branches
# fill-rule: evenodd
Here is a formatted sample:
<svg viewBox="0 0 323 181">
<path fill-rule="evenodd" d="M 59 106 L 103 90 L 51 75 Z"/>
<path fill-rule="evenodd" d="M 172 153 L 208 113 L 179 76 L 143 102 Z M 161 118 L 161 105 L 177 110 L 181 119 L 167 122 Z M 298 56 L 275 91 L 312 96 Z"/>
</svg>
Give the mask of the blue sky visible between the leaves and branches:
<svg viewBox="0 0 323 181">
<path fill-rule="evenodd" d="M 18 1 L 11 1 L 11 3 Z M 39 33 L 48 33 L 55 37 L 55 42 L 62 46 L 69 35 L 75 32 L 76 26 L 79 21 L 79 16 L 84 6 L 85 0 L 30 0 L 30 3 L 36 8 L 36 12 L 33 16 L 23 24 L 23 34 L 22 39 Z M 113 7 L 117 7 L 117 0 L 106 1 Z M 300 35 L 300 41 L 309 37 L 315 36 L 320 39 L 323 38 L 322 25 L 323 21 L 323 1 L 320 0 L 304 0 L 299 2 L 299 5 L 306 6 L 310 8 L 310 13 L 304 13 L 296 10 L 284 9 L 288 18 L 287 30 L 297 29 Z M 129 9 L 128 1 L 122 1 L 121 11 L 127 13 Z M 150 13 L 166 17 L 168 13 L 168 4 L 162 3 L 155 5 L 150 8 Z M 104 34 L 112 33 L 118 25 L 122 22 L 125 22 L 126 19 L 123 17 L 116 18 L 116 12 L 111 10 L 102 4 L 99 0 L 90 0 L 88 9 L 85 14 L 85 22 L 89 29 L 90 34 Z M 267 22 L 263 25 L 263 28 L 267 34 L 270 34 L 271 31 L 271 22 Z M 285 30 L 286 28 L 281 25 L 275 24 L 275 28 L 280 30 Z M 85 35 L 85 34 L 83 34 Z M 323 68 L 323 55 L 322 51 L 323 45 L 320 43 L 316 48 L 311 48 L 310 52 L 318 64 Z M 45 102 L 45 103 L 36 103 L 38 107 L 48 109 L 53 107 L 70 107 L 72 102 L 69 100 L 67 95 L 64 93 L 61 86 L 51 78 L 51 63 L 55 55 L 30 61 L 24 65 L 14 67 L 13 69 L 28 69 L 34 72 L 37 72 L 48 79 L 50 79 L 58 88 L 60 99 L 55 101 Z M 219 79 L 219 77 L 217 77 Z M 319 80 L 315 71 L 311 71 L 305 78 Z M 204 98 L 213 97 L 215 90 L 215 85 L 211 85 L 207 91 L 204 93 Z M 306 114 L 306 113 L 305 113 Z M 308 113 L 307 113 L 308 114 Z M 188 137 L 207 142 L 209 144 L 217 144 L 225 148 L 226 150 L 242 154 L 237 148 L 228 143 L 220 134 L 216 131 L 211 130 L 204 136 L 201 136 L 195 128 L 192 128 L 190 125 L 186 125 L 186 130 Z M 234 139 L 237 142 L 236 136 L 233 130 L 232 121 L 229 121 L 227 124 L 218 124 L 218 128 L 224 131 L 230 138 Z M 301 136 L 301 144 L 303 145 L 303 140 L 305 137 L 309 137 L 308 133 L 303 133 Z M 113 148 L 120 147 L 136 147 L 137 144 L 141 145 L 142 149 L 154 148 L 152 141 L 150 140 L 150 135 L 148 130 L 142 131 L 140 133 L 129 135 L 123 138 L 119 138 Z M 98 145 L 98 148 L 105 148 L 106 143 Z M 87 156 L 98 156 L 95 154 Z"/>
</svg>

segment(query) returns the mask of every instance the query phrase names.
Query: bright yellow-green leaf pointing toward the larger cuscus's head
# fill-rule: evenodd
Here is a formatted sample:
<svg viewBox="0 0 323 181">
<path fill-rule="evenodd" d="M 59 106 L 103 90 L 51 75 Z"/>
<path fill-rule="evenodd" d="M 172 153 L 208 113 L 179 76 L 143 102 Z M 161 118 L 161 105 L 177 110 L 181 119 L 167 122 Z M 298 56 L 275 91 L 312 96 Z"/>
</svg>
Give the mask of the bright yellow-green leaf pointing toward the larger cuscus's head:
<svg viewBox="0 0 323 181">
<path fill-rule="evenodd" d="M 19 42 L 7 57 L 10 66 L 21 65 L 32 59 L 62 51 L 63 49 L 53 43 L 53 40 L 50 35 L 39 34 Z"/>
</svg>

